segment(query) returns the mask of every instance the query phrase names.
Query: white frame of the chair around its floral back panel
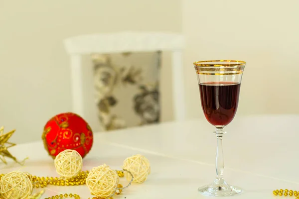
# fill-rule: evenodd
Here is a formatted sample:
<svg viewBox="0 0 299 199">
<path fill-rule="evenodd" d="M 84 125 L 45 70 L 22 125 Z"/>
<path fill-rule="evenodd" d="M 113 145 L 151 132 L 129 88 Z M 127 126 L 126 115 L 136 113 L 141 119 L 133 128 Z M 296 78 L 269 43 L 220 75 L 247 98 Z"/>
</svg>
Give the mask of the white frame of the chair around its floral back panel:
<svg viewBox="0 0 299 199">
<path fill-rule="evenodd" d="M 126 56 L 130 53 L 154 52 L 155 54 L 153 56 L 159 59 L 161 51 L 171 51 L 174 119 L 180 121 L 185 118 L 182 66 L 184 38 L 182 35 L 160 32 L 119 32 L 111 34 L 81 35 L 67 38 L 64 43 L 66 51 L 70 55 L 73 112 L 84 117 L 83 78 L 81 72 L 82 55 L 92 55 L 92 60 L 96 69 L 99 68 L 99 66 L 110 66 L 110 55 L 113 57 L 116 56 L 116 54 Z M 108 68 L 106 67 L 106 69 Z M 101 73 L 103 73 L 103 68 L 101 68 L 101 70 Z M 131 73 L 139 73 L 138 69 L 133 68 L 131 70 L 130 68 L 129 70 Z M 107 73 L 107 70 L 105 73 Z M 130 80 L 128 81 L 130 82 Z M 140 87 L 141 89 L 147 90 L 142 86 Z M 140 100 L 138 99 L 138 96 L 134 99 L 136 101 Z M 106 97 L 105 100 L 106 102 L 108 101 L 109 104 L 115 102 L 115 100 L 110 97 Z M 103 104 L 103 100 L 98 102 L 98 107 L 100 109 L 102 108 L 102 110 Z M 105 120 L 105 117 L 101 117 L 101 121 L 102 120 Z"/>
</svg>

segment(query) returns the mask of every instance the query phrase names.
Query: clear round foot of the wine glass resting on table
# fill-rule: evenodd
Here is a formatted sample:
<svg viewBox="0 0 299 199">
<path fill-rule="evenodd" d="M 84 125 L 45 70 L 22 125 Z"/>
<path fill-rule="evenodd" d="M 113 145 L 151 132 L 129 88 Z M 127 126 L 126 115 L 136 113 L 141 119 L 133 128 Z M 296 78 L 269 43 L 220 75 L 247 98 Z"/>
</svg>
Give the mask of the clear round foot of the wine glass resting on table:
<svg viewBox="0 0 299 199">
<path fill-rule="evenodd" d="M 233 196 L 241 194 L 242 190 L 228 185 L 225 181 L 222 183 L 215 181 L 211 185 L 198 188 L 198 192 L 203 196 Z"/>
</svg>

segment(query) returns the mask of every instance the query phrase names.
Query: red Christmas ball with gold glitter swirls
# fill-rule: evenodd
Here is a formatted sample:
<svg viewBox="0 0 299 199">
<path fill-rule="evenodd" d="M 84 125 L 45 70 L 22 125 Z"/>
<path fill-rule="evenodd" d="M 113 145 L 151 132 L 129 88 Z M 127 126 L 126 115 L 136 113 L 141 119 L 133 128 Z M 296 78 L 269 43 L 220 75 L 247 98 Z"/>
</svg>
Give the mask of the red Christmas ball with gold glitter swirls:
<svg viewBox="0 0 299 199">
<path fill-rule="evenodd" d="M 76 150 L 84 158 L 92 147 L 93 133 L 82 117 L 66 112 L 55 115 L 46 123 L 42 140 L 53 158 L 65 149 Z"/>
</svg>

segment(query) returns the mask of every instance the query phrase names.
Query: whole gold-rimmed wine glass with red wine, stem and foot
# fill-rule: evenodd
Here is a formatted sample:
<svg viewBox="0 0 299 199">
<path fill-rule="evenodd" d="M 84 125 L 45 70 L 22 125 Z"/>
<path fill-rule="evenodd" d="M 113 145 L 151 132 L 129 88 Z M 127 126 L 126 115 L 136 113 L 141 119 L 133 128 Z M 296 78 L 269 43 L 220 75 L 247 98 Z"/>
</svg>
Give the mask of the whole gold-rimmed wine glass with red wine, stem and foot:
<svg viewBox="0 0 299 199">
<path fill-rule="evenodd" d="M 242 74 L 246 62 L 236 60 L 212 60 L 194 62 L 200 90 L 201 106 L 208 122 L 216 127 L 216 180 L 198 188 L 204 196 L 232 196 L 242 190 L 224 181 L 223 128 L 237 111 Z"/>
</svg>

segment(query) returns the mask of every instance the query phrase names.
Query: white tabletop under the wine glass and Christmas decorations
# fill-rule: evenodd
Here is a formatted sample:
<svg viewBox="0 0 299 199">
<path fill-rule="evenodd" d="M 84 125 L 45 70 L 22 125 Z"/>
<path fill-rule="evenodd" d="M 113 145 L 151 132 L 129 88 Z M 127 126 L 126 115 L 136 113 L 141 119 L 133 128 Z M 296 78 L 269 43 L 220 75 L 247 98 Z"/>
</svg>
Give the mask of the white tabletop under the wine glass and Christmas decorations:
<svg viewBox="0 0 299 199">
<path fill-rule="evenodd" d="M 228 183 L 244 190 L 231 198 L 271 199 L 275 198 L 274 189 L 299 190 L 298 123 L 299 115 L 236 116 L 225 128 L 224 176 Z M 149 179 L 144 184 L 132 184 L 115 199 L 204 198 L 197 188 L 215 178 L 213 130 L 207 121 L 193 120 L 95 133 L 83 169 L 104 163 L 121 169 L 125 158 L 143 154 L 151 164 Z M 18 159 L 29 156 L 30 160 L 21 168 L 12 162 L 1 164 L 1 173 L 20 169 L 38 176 L 57 176 L 42 142 L 19 144 L 10 152 Z M 121 179 L 121 183 L 127 182 Z M 61 193 L 91 197 L 86 186 L 48 186 L 43 198 Z"/>
</svg>

